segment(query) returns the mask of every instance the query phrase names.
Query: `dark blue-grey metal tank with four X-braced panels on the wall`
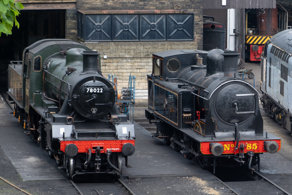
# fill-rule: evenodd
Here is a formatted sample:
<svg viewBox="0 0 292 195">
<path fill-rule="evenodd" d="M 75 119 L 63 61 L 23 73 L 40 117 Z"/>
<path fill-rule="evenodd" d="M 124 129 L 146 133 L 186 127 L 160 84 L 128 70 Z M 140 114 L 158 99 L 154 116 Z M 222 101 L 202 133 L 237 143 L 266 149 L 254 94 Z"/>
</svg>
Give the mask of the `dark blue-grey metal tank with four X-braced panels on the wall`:
<svg viewBox="0 0 292 195">
<path fill-rule="evenodd" d="M 78 12 L 78 37 L 96 41 L 193 41 L 194 14 L 92 14 Z"/>
</svg>

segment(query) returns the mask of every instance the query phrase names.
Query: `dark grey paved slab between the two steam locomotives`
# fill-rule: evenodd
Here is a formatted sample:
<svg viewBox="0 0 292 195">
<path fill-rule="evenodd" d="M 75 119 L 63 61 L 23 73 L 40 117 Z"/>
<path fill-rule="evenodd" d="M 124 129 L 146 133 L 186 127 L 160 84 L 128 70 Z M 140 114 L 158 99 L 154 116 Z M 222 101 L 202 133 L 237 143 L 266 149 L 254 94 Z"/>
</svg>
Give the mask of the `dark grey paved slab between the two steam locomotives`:
<svg viewBox="0 0 292 195">
<path fill-rule="evenodd" d="M 152 137 L 140 125 L 135 123 L 135 153 L 128 157 L 128 165 L 123 166 L 122 176 L 147 177 L 151 175 L 165 176 L 195 176 L 204 174 L 194 161 L 183 157 L 182 153 L 175 152 L 171 146 L 166 146 L 163 141 Z"/>
</svg>

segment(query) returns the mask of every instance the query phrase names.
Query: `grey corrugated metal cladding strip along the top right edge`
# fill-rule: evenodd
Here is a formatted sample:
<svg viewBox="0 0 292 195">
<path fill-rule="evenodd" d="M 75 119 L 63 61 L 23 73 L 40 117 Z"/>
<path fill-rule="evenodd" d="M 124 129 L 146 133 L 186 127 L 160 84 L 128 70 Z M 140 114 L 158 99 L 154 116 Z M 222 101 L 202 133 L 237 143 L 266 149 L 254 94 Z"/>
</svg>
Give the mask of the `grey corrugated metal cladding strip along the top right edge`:
<svg viewBox="0 0 292 195">
<path fill-rule="evenodd" d="M 204 0 L 203 9 L 276 8 L 276 0 L 226 0 L 226 6 L 222 1 L 225 0 Z"/>
</svg>

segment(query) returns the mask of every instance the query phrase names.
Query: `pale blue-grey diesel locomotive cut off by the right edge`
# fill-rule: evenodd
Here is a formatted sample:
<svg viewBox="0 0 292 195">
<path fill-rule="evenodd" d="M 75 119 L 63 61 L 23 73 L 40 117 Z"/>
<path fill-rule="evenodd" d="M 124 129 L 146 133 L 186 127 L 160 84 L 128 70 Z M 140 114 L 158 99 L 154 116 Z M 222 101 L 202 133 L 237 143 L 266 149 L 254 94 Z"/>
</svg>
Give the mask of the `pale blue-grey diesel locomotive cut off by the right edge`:
<svg viewBox="0 0 292 195">
<path fill-rule="evenodd" d="M 261 103 L 267 115 L 292 134 L 292 30 L 268 40 L 261 55 Z"/>
</svg>

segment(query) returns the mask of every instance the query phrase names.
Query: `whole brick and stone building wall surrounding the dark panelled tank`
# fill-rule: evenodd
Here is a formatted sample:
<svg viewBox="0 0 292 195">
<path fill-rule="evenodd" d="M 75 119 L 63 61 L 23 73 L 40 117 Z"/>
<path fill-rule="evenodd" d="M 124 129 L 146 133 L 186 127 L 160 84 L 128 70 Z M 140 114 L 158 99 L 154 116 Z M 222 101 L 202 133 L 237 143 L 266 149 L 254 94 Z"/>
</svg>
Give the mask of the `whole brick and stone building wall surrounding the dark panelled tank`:
<svg viewBox="0 0 292 195">
<path fill-rule="evenodd" d="M 176 5 L 176 6 L 175 6 Z M 82 42 L 101 53 L 102 72 L 117 76 L 118 93 L 128 86 L 129 75 L 136 77 L 136 90 L 147 89 L 147 74 L 152 72 L 152 53 L 172 49 L 203 48 L 203 0 L 77 0 L 77 10 L 173 10 L 179 7 L 194 13 L 194 41 L 156 42 Z M 77 11 L 67 10 L 68 39 L 77 40 Z M 81 41 L 80 41 L 81 42 Z M 107 58 L 104 59 L 103 56 Z M 136 91 L 137 92 L 137 91 Z M 145 94 L 147 96 L 147 94 Z M 147 105 L 147 99 L 135 99 L 136 105 Z"/>
</svg>

